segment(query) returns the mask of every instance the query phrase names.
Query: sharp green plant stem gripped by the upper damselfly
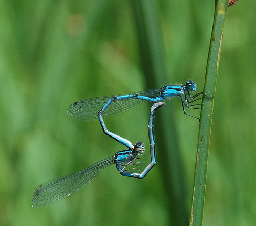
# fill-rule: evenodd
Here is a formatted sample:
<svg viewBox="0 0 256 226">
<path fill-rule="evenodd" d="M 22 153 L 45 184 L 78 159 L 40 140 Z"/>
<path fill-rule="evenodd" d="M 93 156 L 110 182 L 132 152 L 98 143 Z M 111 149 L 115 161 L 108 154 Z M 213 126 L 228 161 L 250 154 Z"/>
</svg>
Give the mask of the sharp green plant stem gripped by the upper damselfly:
<svg viewBox="0 0 256 226">
<path fill-rule="evenodd" d="M 216 3 L 205 77 L 205 95 L 203 96 L 200 118 L 201 126 L 199 128 L 190 225 L 202 225 L 203 223 L 212 111 L 227 7 L 228 0 L 219 0 Z"/>
</svg>

